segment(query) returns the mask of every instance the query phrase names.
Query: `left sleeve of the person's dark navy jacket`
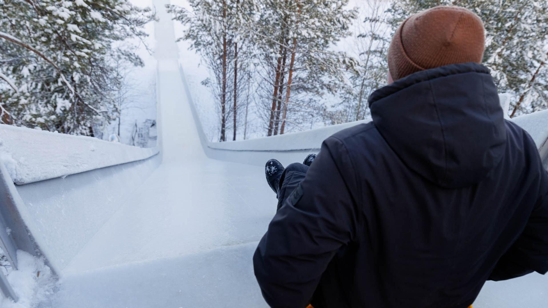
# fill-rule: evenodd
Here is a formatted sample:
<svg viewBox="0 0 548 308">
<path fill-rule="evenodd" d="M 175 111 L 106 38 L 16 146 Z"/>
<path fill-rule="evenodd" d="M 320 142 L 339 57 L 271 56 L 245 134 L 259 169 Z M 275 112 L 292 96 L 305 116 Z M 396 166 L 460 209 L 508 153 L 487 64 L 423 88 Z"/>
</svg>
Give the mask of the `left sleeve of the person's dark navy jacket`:
<svg viewBox="0 0 548 308">
<path fill-rule="evenodd" d="M 326 139 L 305 179 L 284 201 L 253 256 L 271 307 L 304 308 L 336 251 L 356 235 L 357 182 L 343 143 Z"/>
</svg>

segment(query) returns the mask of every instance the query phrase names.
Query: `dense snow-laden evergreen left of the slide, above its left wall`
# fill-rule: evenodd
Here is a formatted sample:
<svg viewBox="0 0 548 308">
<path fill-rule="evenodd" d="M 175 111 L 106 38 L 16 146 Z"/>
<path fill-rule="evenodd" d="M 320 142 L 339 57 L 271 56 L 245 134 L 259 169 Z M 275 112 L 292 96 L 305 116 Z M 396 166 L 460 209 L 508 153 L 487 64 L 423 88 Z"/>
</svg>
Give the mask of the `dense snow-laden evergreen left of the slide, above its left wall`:
<svg viewBox="0 0 548 308">
<path fill-rule="evenodd" d="M 142 65 L 127 40 L 153 19 L 128 0 L 0 0 L 2 123 L 93 135 L 116 114 L 115 62 Z"/>
</svg>

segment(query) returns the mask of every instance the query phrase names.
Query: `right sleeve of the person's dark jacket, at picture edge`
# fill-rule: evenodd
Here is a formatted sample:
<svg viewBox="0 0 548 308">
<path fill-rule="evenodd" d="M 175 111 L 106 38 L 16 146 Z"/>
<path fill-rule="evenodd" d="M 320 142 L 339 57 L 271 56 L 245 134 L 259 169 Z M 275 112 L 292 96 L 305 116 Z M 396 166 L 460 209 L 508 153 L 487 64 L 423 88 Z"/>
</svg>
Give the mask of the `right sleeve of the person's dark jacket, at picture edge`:
<svg viewBox="0 0 548 308">
<path fill-rule="evenodd" d="M 529 137 L 530 139 L 530 137 Z M 534 145 L 533 140 L 530 143 Z M 536 147 L 533 147 L 533 170 L 540 170 L 539 196 L 520 237 L 500 258 L 489 280 L 500 281 L 548 271 L 548 173 L 544 170 Z"/>
</svg>

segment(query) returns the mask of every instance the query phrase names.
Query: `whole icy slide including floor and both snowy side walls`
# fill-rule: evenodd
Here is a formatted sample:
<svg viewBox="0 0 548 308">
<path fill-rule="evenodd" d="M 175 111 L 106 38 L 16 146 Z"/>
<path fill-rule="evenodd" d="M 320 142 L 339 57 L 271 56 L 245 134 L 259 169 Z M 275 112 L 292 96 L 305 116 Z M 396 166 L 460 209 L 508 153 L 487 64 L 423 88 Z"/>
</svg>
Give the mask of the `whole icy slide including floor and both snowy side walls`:
<svg viewBox="0 0 548 308">
<path fill-rule="evenodd" d="M 11 153 L 0 163 L 0 225 L 12 230 L 0 235 L 12 249 L 43 254 L 58 274 L 58 290 L 42 307 L 267 307 L 252 266 L 276 208 L 262 164 L 272 157 L 300 161 L 356 124 L 207 142 L 179 68 L 172 22 L 162 1 L 156 7 L 158 149 L 0 126 L 1 146 Z M 548 111 L 513 121 L 544 145 Z M 32 153 L 17 151 L 18 130 L 36 140 L 26 145 Z M 53 155 L 50 142 L 66 151 Z M 76 169 L 63 169 L 75 160 Z M 475 306 L 547 302 L 548 277 L 533 274 L 488 282 Z"/>
</svg>

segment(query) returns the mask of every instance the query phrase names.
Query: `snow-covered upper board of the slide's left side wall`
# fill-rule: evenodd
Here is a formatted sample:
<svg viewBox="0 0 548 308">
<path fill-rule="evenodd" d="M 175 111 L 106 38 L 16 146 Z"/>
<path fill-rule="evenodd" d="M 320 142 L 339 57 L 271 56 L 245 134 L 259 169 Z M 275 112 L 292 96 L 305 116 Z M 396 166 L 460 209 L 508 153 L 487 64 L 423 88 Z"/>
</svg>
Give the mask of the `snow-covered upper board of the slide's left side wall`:
<svg viewBox="0 0 548 308">
<path fill-rule="evenodd" d="M 0 159 L 16 184 L 138 161 L 157 152 L 157 148 L 0 125 Z"/>
</svg>

